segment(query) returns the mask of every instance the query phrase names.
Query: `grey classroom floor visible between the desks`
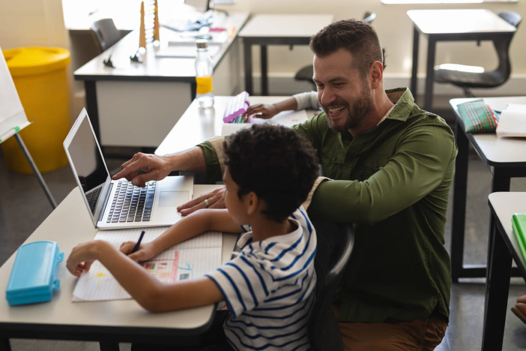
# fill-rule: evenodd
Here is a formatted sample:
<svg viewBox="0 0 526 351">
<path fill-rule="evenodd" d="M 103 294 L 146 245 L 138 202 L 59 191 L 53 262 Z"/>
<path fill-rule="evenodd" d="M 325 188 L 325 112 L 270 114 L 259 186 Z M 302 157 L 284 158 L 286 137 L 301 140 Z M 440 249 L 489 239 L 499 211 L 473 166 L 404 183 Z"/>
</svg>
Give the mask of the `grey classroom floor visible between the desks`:
<svg viewBox="0 0 526 351">
<path fill-rule="evenodd" d="M 116 169 L 122 158 L 108 158 L 108 167 Z M 468 210 L 466 222 L 466 249 L 464 263 L 486 262 L 491 175 L 476 154 L 471 153 L 468 175 Z M 74 179 L 69 166 L 44 174 L 44 178 L 57 202 L 73 188 Z M 37 228 L 52 211 L 47 199 L 33 175 L 21 175 L 7 171 L 4 156 L 0 155 L 0 263 L 11 256 L 16 248 Z M 526 179 L 512 179 L 511 190 L 526 191 Z M 446 247 L 450 247 L 450 218 L 446 227 Z M 66 253 L 67 254 L 67 253 Z M 437 350 L 479 350 L 482 342 L 482 318 L 484 305 L 484 279 L 471 279 L 453 284 L 451 288 L 451 317 L 446 337 Z M 515 298 L 526 294 L 526 286 L 520 278 L 512 278 L 508 299 L 503 350 L 526 349 L 526 325 L 509 310 Z M 50 340 L 12 339 L 12 349 L 18 350 L 98 350 L 97 343 L 66 342 Z M 121 345 L 129 350 L 129 344 Z"/>
</svg>

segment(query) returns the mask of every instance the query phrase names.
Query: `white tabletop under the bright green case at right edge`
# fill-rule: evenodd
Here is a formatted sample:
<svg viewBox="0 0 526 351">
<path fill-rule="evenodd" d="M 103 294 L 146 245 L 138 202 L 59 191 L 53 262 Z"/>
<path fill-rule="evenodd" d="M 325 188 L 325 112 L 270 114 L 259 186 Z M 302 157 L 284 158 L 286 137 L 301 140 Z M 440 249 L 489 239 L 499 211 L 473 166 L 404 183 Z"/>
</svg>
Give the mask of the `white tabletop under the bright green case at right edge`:
<svg viewBox="0 0 526 351">
<path fill-rule="evenodd" d="M 491 193 L 488 196 L 489 202 L 493 207 L 495 215 L 497 215 L 506 235 L 508 236 L 511 245 L 519 257 L 522 257 L 517 239 L 513 234 L 513 227 L 511 225 L 511 216 L 514 213 L 526 213 L 526 193 L 523 192 L 499 192 Z M 524 261 L 515 262 L 522 266 L 522 270 L 526 270 Z"/>
</svg>

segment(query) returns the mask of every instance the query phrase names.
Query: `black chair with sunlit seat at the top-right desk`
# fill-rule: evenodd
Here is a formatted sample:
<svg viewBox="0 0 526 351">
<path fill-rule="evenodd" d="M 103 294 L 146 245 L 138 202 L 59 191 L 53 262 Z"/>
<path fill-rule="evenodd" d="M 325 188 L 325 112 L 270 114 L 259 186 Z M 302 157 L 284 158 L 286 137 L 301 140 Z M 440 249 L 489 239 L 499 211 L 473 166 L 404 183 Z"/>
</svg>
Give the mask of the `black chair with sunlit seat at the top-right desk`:
<svg viewBox="0 0 526 351">
<path fill-rule="evenodd" d="M 521 15 L 513 11 L 499 11 L 497 15 L 515 28 L 522 20 Z M 494 88 L 504 84 L 511 74 L 509 48 L 512 38 L 513 34 L 507 39 L 493 40 L 499 59 L 499 65 L 493 71 L 478 66 L 441 64 L 434 67 L 434 81 L 456 85 L 467 97 L 474 97 L 471 88 Z"/>
</svg>

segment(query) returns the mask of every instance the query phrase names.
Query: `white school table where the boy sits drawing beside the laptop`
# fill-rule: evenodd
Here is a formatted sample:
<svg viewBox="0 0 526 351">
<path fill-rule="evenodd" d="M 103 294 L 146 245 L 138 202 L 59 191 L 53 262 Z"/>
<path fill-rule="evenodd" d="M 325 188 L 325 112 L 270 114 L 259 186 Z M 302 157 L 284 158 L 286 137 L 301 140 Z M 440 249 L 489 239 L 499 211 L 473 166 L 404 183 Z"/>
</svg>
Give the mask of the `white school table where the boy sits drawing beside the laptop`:
<svg viewBox="0 0 526 351">
<path fill-rule="evenodd" d="M 194 196 L 217 188 L 195 185 Z M 97 230 L 77 187 L 58 205 L 24 244 L 54 240 L 65 253 L 58 264 L 60 289 L 50 302 L 8 306 L 0 304 L 0 350 L 10 350 L 9 338 L 92 340 L 102 351 L 118 351 L 119 342 L 174 342 L 177 336 L 196 336 L 208 329 L 215 305 L 176 312 L 149 313 L 135 300 L 72 302 L 77 278 L 65 266 L 72 248 L 87 242 Z M 223 234 L 222 260 L 227 262 L 237 235 Z M 0 267 L 0 290 L 5 292 L 16 254 Z"/>
</svg>

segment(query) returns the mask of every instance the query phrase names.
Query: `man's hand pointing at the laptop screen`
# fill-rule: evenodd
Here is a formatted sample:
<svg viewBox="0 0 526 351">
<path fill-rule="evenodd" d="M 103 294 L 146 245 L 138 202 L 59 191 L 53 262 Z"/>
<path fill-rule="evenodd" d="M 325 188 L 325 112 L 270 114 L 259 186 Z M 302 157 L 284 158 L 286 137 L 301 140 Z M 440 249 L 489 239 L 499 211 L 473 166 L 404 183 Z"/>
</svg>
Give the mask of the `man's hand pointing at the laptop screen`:
<svg viewBox="0 0 526 351">
<path fill-rule="evenodd" d="M 165 156 L 137 153 L 123 163 L 122 171 L 115 174 L 112 179 L 126 178 L 131 184 L 144 187 L 149 180 L 161 180 L 170 174 L 170 164 Z M 137 175 L 138 171 L 146 171 Z"/>
</svg>

